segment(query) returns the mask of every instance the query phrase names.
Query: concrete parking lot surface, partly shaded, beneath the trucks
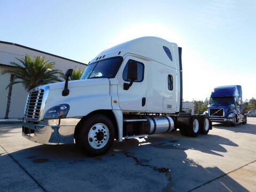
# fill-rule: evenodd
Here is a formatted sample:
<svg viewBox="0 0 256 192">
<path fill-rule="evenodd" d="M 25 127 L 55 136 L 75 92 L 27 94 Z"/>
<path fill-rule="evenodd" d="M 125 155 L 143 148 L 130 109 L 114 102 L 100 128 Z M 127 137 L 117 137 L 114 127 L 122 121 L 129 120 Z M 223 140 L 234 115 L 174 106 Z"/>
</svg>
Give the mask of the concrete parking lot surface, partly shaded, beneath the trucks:
<svg viewBox="0 0 256 192">
<path fill-rule="evenodd" d="M 20 123 L 0 124 L 0 191 L 256 191 L 256 118 L 208 135 L 179 131 L 115 141 L 88 157 L 75 145 L 41 145 Z"/>
</svg>

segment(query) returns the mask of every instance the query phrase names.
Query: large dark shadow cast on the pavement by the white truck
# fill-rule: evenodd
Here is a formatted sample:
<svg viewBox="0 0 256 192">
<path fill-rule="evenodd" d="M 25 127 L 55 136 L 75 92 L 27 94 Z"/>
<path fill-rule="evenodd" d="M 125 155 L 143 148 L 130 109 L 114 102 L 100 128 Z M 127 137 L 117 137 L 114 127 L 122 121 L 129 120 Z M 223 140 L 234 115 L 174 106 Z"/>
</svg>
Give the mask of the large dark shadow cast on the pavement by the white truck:
<svg viewBox="0 0 256 192">
<path fill-rule="evenodd" d="M 227 150 L 222 145 L 237 146 L 219 135 L 187 138 L 174 131 L 115 141 L 109 153 L 99 157 L 85 156 L 75 145 L 39 145 L 9 156 L 47 191 L 58 189 L 60 183 L 55 181 L 61 181 L 66 191 L 211 191 L 209 183 L 214 183 L 214 190 L 247 191 L 217 166 L 200 165 L 186 153 L 192 149 L 207 162 L 212 155 L 223 157 Z M 7 157 L 2 154 L 0 162 Z"/>
</svg>

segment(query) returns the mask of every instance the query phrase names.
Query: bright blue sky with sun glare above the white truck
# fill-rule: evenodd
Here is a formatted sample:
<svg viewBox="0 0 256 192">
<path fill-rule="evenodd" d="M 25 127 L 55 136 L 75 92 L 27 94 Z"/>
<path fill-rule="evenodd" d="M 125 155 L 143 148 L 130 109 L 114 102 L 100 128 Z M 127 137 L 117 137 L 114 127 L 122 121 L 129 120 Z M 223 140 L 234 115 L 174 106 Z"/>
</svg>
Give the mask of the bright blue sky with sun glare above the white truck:
<svg viewBox="0 0 256 192">
<path fill-rule="evenodd" d="M 256 98 L 256 1 L 0 1 L 0 41 L 88 63 L 141 36 L 182 47 L 183 98 L 204 100 L 215 86 L 242 85 Z"/>
</svg>

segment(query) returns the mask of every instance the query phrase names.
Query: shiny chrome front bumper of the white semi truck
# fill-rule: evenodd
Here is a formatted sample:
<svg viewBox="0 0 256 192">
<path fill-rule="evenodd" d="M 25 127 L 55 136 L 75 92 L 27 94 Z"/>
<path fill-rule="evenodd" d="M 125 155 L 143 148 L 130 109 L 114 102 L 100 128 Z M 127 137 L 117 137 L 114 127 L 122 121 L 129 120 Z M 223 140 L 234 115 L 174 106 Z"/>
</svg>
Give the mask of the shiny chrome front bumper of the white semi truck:
<svg viewBox="0 0 256 192">
<path fill-rule="evenodd" d="M 74 132 L 81 118 L 53 119 L 38 124 L 22 122 L 22 136 L 43 144 L 74 143 Z"/>
</svg>

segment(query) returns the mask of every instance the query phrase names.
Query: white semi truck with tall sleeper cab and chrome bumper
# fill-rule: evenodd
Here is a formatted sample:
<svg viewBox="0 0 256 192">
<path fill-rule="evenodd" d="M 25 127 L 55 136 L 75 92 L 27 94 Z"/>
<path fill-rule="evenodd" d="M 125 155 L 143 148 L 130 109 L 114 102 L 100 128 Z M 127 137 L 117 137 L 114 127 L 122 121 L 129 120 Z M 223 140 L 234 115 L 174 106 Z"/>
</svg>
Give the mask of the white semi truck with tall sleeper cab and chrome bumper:
<svg viewBox="0 0 256 192">
<path fill-rule="evenodd" d="M 76 143 L 84 153 L 107 153 L 114 140 L 179 129 L 207 134 L 207 115 L 182 112 L 181 47 L 141 37 L 101 52 L 81 79 L 40 85 L 28 94 L 23 137 L 38 143 Z"/>
</svg>

